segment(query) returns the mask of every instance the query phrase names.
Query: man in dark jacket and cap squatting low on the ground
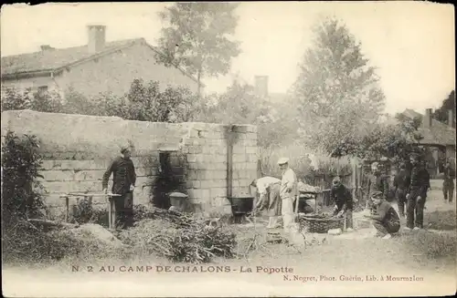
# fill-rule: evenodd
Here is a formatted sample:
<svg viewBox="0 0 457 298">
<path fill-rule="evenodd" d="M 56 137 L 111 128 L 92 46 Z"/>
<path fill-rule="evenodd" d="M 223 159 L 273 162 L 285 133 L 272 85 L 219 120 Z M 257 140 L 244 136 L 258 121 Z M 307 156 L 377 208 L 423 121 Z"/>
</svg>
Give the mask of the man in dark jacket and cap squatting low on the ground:
<svg viewBox="0 0 457 298">
<path fill-rule="evenodd" d="M 384 196 L 380 191 L 374 191 L 371 200 L 373 200 L 375 207 L 374 213 L 366 214 L 364 217 L 373 221 L 378 237 L 389 239 L 392 237 L 392 233 L 399 231 L 399 214 L 387 200 L 384 200 Z"/>
</svg>

